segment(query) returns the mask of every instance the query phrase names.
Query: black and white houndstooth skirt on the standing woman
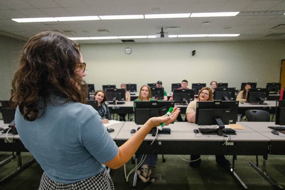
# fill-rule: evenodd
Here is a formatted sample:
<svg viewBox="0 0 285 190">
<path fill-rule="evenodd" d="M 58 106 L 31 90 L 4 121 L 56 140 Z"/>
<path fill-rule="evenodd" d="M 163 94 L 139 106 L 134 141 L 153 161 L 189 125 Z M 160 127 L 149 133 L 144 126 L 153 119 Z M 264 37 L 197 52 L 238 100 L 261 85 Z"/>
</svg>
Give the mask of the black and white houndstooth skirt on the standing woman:
<svg viewBox="0 0 285 190">
<path fill-rule="evenodd" d="M 48 178 L 48 176 L 46 176 L 45 173 L 42 174 L 39 190 L 69 190 L 69 189 L 113 190 L 114 185 L 106 168 L 101 173 L 98 173 L 97 175 L 94 175 L 82 181 L 78 181 L 76 183 L 58 183 Z"/>
</svg>

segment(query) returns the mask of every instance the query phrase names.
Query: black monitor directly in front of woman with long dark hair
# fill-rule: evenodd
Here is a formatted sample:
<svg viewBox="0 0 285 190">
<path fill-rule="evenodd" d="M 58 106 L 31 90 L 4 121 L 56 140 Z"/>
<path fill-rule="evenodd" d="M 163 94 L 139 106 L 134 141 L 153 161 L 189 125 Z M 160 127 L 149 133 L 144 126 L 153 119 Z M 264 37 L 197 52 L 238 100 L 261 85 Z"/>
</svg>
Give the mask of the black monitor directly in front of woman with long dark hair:
<svg viewBox="0 0 285 190">
<path fill-rule="evenodd" d="M 269 91 L 267 88 L 250 88 L 247 93 L 247 102 L 262 104 L 268 95 Z"/>
</svg>

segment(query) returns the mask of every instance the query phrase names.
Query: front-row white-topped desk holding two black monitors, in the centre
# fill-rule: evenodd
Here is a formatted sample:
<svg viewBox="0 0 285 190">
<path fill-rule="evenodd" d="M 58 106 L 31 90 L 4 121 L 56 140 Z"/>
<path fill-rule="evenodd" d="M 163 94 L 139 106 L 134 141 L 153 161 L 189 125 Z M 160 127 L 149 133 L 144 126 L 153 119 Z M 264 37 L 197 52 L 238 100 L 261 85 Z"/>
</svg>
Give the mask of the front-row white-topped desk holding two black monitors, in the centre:
<svg viewBox="0 0 285 190">
<path fill-rule="evenodd" d="M 117 145 L 121 146 L 131 138 L 131 129 L 137 129 L 139 126 L 141 125 L 136 125 L 134 122 L 125 122 L 115 138 Z M 233 155 L 231 172 L 245 189 L 247 186 L 235 173 L 237 155 L 262 155 L 267 159 L 270 139 L 247 126 L 243 126 L 244 130 L 237 130 L 237 135 L 231 135 L 230 143 L 227 145 L 222 145 L 227 140 L 223 136 L 195 134 L 193 130 L 200 126 L 194 123 L 175 122 L 166 127 L 171 128 L 171 134 L 159 134 L 152 145 L 150 142 L 154 137 L 148 134 L 136 154 Z"/>
</svg>

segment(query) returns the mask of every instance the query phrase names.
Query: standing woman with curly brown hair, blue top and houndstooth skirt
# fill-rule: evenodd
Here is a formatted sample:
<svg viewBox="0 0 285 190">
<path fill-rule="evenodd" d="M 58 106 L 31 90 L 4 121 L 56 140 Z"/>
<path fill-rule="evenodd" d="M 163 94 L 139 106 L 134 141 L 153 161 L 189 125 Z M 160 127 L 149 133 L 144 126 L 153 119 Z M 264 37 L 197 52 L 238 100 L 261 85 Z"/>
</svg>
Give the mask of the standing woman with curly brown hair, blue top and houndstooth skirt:
<svg viewBox="0 0 285 190">
<path fill-rule="evenodd" d="M 119 148 L 86 101 L 86 63 L 78 44 L 57 31 L 40 32 L 24 46 L 12 82 L 20 140 L 44 173 L 39 189 L 114 189 L 106 170 L 119 168 L 151 128 L 178 115 L 154 117 Z"/>
</svg>

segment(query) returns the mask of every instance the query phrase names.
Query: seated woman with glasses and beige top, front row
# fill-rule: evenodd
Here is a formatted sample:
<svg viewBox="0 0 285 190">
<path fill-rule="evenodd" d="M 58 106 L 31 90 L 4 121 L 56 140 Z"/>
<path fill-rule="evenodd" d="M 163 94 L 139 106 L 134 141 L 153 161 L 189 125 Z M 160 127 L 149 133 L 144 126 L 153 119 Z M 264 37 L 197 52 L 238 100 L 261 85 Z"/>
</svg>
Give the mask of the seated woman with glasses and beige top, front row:
<svg viewBox="0 0 285 190">
<path fill-rule="evenodd" d="M 189 103 L 186 109 L 186 118 L 188 122 L 195 123 L 196 118 L 196 103 L 197 101 L 213 101 L 213 93 L 211 88 L 203 87 L 198 94 L 198 99 L 193 100 Z M 192 167 L 198 167 L 201 163 L 200 155 L 191 155 L 190 160 L 194 162 L 190 162 L 189 165 Z M 221 166 L 230 166 L 231 163 L 229 160 L 225 158 L 223 155 L 216 155 L 216 162 Z"/>
</svg>

